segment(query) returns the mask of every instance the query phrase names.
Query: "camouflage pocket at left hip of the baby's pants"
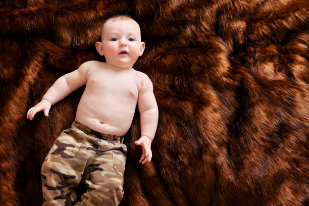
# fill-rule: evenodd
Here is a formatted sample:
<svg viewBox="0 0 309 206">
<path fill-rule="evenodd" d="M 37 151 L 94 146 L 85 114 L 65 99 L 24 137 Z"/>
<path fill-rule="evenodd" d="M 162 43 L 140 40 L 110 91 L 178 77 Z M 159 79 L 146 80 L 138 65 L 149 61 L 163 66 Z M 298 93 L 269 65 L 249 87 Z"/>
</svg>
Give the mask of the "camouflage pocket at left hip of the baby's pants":
<svg viewBox="0 0 309 206">
<path fill-rule="evenodd" d="M 64 130 L 56 139 L 49 154 L 65 159 L 74 158 L 81 145 L 81 141 L 74 138 L 75 133 L 77 132 L 72 129 Z"/>
</svg>

